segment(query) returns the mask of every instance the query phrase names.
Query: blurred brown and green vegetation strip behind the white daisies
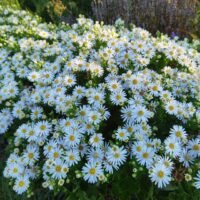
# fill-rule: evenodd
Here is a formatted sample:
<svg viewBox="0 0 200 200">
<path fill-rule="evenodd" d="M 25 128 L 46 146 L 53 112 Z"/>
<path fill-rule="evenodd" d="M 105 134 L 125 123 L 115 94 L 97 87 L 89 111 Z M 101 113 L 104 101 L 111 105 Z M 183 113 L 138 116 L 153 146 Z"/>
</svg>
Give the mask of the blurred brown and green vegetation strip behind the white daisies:
<svg viewBox="0 0 200 200">
<path fill-rule="evenodd" d="M 200 36 L 199 0 L 1 0 L 40 15 L 47 22 L 73 23 L 79 14 L 105 23 L 117 18 L 152 33 L 175 32 L 182 37 Z"/>
</svg>

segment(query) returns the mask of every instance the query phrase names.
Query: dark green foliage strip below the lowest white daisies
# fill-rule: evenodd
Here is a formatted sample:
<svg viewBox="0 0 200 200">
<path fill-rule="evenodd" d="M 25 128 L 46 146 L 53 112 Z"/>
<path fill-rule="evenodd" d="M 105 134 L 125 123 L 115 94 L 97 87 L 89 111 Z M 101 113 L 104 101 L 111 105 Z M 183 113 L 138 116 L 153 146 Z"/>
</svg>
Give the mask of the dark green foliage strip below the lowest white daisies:
<svg viewBox="0 0 200 200">
<path fill-rule="evenodd" d="M 5 160 L 0 158 L 1 161 Z M 4 163 L 0 162 L 2 171 Z M 193 187 L 180 184 L 170 185 L 164 190 L 158 190 L 148 180 L 143 172 L 136 179 L 129 176 L 130 168 L 124 166 L 113 177 L 112 181 L 101 185 L 69 183 L 67 188 L 58 192 L 37 189 L 31 197 L 18 196 L 13 192 L 8 181 L 0 177 L 1 200 L 199 200 L 200 193 Z M 139 178 L 139 179 L 138 179 Z"/>
</svg>

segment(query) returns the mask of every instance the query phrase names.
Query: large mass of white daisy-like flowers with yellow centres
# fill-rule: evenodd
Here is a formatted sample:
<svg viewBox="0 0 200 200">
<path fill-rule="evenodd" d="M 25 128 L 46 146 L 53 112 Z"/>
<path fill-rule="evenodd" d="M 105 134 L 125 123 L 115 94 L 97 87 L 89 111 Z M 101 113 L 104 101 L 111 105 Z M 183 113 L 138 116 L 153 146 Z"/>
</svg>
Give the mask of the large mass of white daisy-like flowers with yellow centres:
<svg viewBox="0 0 200 200">
<path fill-rule="evenodd" d="M 0 24 L 4 176 L 18 194 L 109 183 L 124 166 L 158 188 L 200 188 L 196 50 L 120 20 L 55 26 L 1 8 Z"/>
</svg>

